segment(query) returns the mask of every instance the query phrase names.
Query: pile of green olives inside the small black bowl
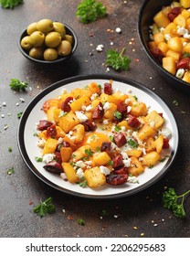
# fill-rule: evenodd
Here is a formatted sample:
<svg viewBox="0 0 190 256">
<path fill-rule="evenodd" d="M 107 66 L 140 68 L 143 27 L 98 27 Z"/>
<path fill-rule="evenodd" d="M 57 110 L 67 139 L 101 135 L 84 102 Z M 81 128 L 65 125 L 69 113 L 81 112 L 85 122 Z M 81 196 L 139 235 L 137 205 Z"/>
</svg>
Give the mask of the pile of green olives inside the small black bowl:
<svg viewBox="0 0 190 256">
<path fill-rule="evenodd" d="M 28 25 L 26 33 L 20 45 L 31 58 L 53 61 L 68 56 L 72 50 L 73 38 L 61 22 L 41 19 Z"/>
</svg>

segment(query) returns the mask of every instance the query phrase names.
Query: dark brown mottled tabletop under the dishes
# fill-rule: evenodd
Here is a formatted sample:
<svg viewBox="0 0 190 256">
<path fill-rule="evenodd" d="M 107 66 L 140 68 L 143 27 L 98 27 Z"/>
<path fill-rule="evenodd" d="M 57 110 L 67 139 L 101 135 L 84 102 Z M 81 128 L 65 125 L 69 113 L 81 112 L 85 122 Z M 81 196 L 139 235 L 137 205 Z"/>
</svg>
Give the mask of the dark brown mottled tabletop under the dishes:
<svg viewBox="0 0 190 256">
<path fill-rule="evenodd" d="M 144 237 L 190 236 L 189 198 L 185 203 L 187 218 L 183 220 L 175 219 L 161 203 L 164 187 L 175 187 L 178 194 L 190 187 L 189 96 L 167 84 L 142 50 L 137 35 L 137 16 L 142 1 L 101 2 L 106 5 L 108 16 L 90 25 L 79 23 L 75 16 L 79 1 L 74 0 L 27 0 L 14 10 L 0 8 L 0 114 L 5 114 L 4 118 L 0 117 L 0 237 L 140 237 L 142 233 Z M 20 54 L 17 41 L 22 30 L 41 18 L 59 20 L 75 29 L 79 46 L 67 64 L 40 66 Z M 114 31 L 116 27 L 121 27 L 120 35 L 107 31 L 109 28 Z M 104 45 L 102 53 L 96 51 L 99 44 Z M 17 112 L 24 111 L 38 92 L 58 80 L 80 74 L 106 73 L 102 65 L 106 50 L 123 47 L 132 59 L 131 69 L 119 74 L 111 69 L 110 73 L 141 82 L 168 104 L 180 131 L 180 147 L 174 165 L 153 187 L 117 200 L 72 197 L 47 187 L 27 169 L 18 152 Z M 32 91 L 15 94 L 8 87 L 12 78 L 26 80 Z M 25 102 L 20 102 L 20 98 Z M 6 106 L 2 105 L 4 101 Z M 177 106 L 174 101 L 178 102 Z M 13 148 L 12 153 L 8 152 L 8 146 Z M 15 173 L 10 176 L 7 170 L 11 167 Z M 40 219 L 33 208 L 47 197 L 53 197 L 56 213 Z M 103 209 L 109 214 L 101 218 Z M 86 225 L 80 226 L 77 219 L 84 219 Z"/>
</svg>

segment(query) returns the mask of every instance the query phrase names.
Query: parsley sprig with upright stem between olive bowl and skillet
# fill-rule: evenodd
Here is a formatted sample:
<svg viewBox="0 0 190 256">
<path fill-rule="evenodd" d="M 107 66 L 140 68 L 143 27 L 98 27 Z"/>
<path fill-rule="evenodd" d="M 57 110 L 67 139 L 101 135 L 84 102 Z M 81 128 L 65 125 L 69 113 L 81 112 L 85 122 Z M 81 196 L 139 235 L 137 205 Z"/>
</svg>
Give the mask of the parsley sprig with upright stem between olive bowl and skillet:
<svg viewBox="0 0 190 256">
<path fill-rule="evenodd" d="M 108 66 L 116 70 L 128 70 L 130 69 L 131 59 L 124 56 L 125 48 L 122 48 L 121 53 L 116 50 L 109 49 L 107 51 L 106 63 Z"/>
</svg>

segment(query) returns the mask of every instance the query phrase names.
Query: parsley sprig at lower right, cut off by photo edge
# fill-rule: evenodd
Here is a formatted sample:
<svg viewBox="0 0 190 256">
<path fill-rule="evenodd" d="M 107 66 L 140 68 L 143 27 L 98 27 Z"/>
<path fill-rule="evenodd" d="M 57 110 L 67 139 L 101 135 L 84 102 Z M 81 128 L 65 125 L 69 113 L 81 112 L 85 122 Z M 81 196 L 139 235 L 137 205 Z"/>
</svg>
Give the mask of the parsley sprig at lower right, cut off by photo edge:
<svg viewBox="0 0 190 256">
<path fill-rule="evenodd" d="M 189 193 L 190 190 L 187 190 L 184 194 L 178 196 L 176 195 L 174 188 L 170 187 L 163 194 L 164 208 L 170 209 L 175 217 L 184 219 L 186 217 L 184 208 L 185 196 L 187 196 Z"/>
</svg>

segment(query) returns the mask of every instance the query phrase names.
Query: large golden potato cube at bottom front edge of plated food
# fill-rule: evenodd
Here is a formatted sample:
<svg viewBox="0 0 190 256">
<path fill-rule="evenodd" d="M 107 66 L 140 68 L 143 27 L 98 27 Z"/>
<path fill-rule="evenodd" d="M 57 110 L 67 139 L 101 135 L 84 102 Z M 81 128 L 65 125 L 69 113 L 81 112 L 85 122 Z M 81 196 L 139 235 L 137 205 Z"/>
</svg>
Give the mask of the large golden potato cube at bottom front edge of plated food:
<svg viewBox="0 0 190 256">
<path fill-rule="evenodd" d="M 89 187 L 100 187 L 106 183 L 106 177 L 100 173 L 100 168 L 95 166 L 84 172 L 84 177 Z"/>
</svg>

